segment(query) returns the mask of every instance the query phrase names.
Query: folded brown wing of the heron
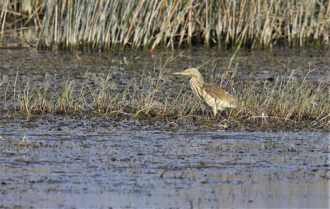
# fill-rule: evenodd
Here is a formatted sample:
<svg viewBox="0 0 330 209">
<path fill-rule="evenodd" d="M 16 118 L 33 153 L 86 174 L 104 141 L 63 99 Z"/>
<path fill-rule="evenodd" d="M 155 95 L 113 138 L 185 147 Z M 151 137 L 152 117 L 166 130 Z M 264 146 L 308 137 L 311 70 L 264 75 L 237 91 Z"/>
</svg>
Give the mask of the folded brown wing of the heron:
<svg viewBox="0 0 330 209">
<path fill-rule="evenodd" d="M 230 93 L 213 84 L 204 84 L 203 89 L 208 95 L 216 98 L 217 101 L 223 101 L 225 104 L 233 103 L 235 101 Z"/>
</svg>

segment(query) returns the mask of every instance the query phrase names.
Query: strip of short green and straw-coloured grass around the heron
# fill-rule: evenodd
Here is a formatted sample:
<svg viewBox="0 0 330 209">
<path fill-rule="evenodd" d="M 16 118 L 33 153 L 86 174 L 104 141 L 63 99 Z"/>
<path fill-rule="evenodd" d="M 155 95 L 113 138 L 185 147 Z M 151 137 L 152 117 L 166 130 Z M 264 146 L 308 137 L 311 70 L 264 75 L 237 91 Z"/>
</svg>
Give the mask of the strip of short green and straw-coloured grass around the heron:
<svg viewBox="0 0 330 209">
<path fill-rule="evenodd" d="M 236 54 L 236 53 L 235 53 Z M 182 56 L 182 55 L 178 55 Z M 232 60 L 241 59 L 232 57 Z M 310 81 L 292 74 L 279 75 L 273 85 L 258 86 L 252 81 L 245 86 L 235 86 L 235 73 L 225 70 L 219 79 L 226 89 L 238 98 L 237 107 L 223 111 L 217 118 L 200 101 L 196 101 L 187 90 L 186 82 L 177 88 L 169 87 L 173 81 L 163 78 L 163 69 L 175 57 L 171 56 L 161 65 L 159 74 L 144 75 L 140 82 L 117 86 L 112 79 L 111 69 L 101 70 L 100 84 L 90 81 L 87 74 L 79 80 L 72 79 L 69 72 L 60 91 L 48 74 L 42 84 L 34 89 L 29 83 L 0 84 L 3 105 L 0 110 L 26 115 L 29 120 L 35 114 L 97 114 L 109 117 L 133 117 L 161 119 L 164 124 L 200 120 L 206 124 L 254 128 L 282 128 L 287 126 L 304 128 L 328 128 L 330 124 L 330 86 L 325 79 Z M 230 62 L 233 63 L 233 62 Z M 231 64 L 227 65 L 230 68 Z M 156 65 L 155 65 L 156 66 Z M 201 66 L 201 65 L 200 65 Z M 199 66 L 199 67 L 200 67 Z M 213 63 L 213 67 L 215 64 Z M 235 65 L 237 71 L 238 65 Z M 17 77 L 24 71 L 17 62 Z M 214 75 L 211 75 L 212 79 Z M 17 79 L 16 79 L 17 80 Z M 13 92 L 14 91 L 14 92 Z M 9 93 L 10 92 L 10 93 Z"/>
</svg>

